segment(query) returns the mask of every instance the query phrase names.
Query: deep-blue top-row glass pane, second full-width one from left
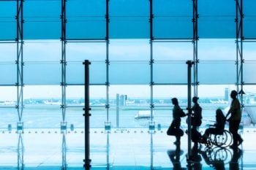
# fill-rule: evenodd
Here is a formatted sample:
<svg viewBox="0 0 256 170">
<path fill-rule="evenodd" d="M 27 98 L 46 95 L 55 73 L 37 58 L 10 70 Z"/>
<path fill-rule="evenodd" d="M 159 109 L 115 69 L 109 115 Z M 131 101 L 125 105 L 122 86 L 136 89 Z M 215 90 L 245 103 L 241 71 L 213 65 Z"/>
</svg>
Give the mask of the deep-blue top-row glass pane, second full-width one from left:
<svg viewBox="0 0 256 170">
<path fill-rule="evenodd" d="M 67 1 L 67 39 L 105 39 L 105 0 Z"/>
</svg>

